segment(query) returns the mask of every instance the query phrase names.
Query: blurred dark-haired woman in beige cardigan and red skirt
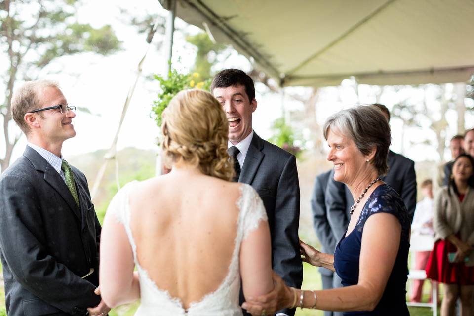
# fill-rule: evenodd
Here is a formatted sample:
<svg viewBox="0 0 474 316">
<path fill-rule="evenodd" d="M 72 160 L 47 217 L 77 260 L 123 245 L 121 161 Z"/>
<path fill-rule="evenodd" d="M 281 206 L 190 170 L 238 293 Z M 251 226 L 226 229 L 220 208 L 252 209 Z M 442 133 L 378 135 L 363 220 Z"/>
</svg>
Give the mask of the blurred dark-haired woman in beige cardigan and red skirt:
<svg viewBox="0 0 474 316">
<path fill-rule="evenodd" d="M 444 283 L 441 316 L 474 315 L 474 159 L 456 158 L 448 186 L 435 198 L 435 245 L 428 259 L 428 278 Z"/>
</svg>

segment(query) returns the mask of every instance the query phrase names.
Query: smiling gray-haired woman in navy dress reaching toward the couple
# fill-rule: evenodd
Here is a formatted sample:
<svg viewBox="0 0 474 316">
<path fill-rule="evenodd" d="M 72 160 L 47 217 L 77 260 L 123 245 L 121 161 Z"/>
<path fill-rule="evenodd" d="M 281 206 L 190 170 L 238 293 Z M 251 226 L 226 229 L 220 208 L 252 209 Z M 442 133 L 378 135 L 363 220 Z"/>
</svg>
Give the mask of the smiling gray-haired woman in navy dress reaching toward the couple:
<svg viewBox="0 0 474 316">
<path fill-rule="evenodd" d="M 387 172 L 390 127 L 375 106 L 343 110 L 326 120 L 324 137 L 334 164 L 334 180 L 345 183 L 356 201 L 334 255 L 300 242 L 303 261 L 325 267 L 342 288 L 306 291 L 276 287 L 243 307 L 268 315 L 282 307 L 344 311 L 344 315 L 409 315 L 406 307 L 410 222 L 403 200 L 380 180 Z"/>
</svg>

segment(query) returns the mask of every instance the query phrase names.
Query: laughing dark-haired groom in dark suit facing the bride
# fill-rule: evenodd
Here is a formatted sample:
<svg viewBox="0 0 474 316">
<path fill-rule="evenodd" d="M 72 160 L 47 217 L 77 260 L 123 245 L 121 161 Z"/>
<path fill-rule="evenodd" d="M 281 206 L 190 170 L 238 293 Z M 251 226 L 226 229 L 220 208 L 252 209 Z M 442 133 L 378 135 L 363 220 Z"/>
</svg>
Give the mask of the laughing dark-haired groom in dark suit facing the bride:
<svg viewBox="0 0 474 316">
<path fill-rule="evenodd" d="M 300 187 L 296 158 L 261 139 L 252 129 L 257 108 L 253 80 L 238 69 L 219 72 L 211 92 L 222 104 L 229 121 L 229 154 L 234 157 L 235 181 L 250 184 L 267 210 L 272 237 L 273 270 L 288 286 L 301 287 L 303 266 L 298 241 Z M 240 291 L 240 304 L 243 303 Z M 276 315 L 291 315 L 285 309 Z M 250 315 L 244 311 L 244 315 Z"/>
</svg>

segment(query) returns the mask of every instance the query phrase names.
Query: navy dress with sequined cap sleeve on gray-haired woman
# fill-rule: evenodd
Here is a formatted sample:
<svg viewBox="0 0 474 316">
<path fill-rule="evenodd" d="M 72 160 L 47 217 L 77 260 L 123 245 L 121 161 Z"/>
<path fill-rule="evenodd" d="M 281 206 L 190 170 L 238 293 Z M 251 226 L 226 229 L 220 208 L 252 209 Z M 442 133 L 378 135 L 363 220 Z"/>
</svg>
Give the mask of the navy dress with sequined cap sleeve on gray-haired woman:
<svg viewBox="0 0 474 316">
<path fill-rule="evenodd" d="M 344 315 L 410 315 L 406 307 L 406 280 L 408 275 L 408 248 L 410 220 L 403 200 L 387 184 L 375 188 L 365 203 L 354 230 L 342 237 L 334 252 L 334 268 L 343 286 L 356 285 L 359 277 L 359 256 L 362 233 L 367 218 L 376 213 L 393 214 L 401 224 L 400 247 L 394 268 L 379 304 L 373 311 L 344 312 Z M 383 238 L 384 236 L 380 236 Z M 376 265 L 378 258 L 373 258 Z"/>
</svg>

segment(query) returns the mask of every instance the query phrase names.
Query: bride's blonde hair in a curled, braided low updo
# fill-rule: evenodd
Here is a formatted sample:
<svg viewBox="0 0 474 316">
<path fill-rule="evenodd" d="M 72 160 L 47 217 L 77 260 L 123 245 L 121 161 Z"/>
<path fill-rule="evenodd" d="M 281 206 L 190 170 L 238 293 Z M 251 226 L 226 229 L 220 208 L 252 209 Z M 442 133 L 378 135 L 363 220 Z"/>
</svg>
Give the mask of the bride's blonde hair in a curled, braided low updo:
<svg viewBox="0 0 474 316">
<path fill-rule="evenodd" d="M 229 125 L 221 104 L 204 90 L 179 92 L 162 114 L 164 163 L 197 165 L 202 173 L 230 180 L 234 167 L 227 153 Z"/>
</svg>

